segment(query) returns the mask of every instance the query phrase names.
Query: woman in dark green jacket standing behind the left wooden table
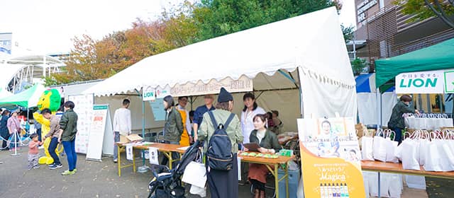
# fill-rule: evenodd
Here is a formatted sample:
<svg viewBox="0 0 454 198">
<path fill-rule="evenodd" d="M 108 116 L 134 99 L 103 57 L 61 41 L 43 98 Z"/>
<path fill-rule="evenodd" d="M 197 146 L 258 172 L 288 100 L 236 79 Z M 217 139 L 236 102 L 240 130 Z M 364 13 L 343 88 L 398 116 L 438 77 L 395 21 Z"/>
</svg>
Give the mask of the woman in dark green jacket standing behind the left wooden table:
<svg viewBox="0 0 454 198">
<path fill-rule="evenodd" d="M 182 115 L 179 114 L 179 111 L 175 109 L 175 102 L 171 95 L 164 97 L 164 109 L 166 112 L 165 115 L 165 124 L 164 124 L 164 143 L 165 144 L 177 144 L 181 140 L 182 133 L 184 131 Z M 178 159 L 179 154 L 177 152 L 172 152 L 172 159 Z M 169 159 L 166 157 L 162 158 L 161 165 L 167 165 Z M 172 163 L 172 167 L 176 167 L 177 163 Z"/>
</svg>

